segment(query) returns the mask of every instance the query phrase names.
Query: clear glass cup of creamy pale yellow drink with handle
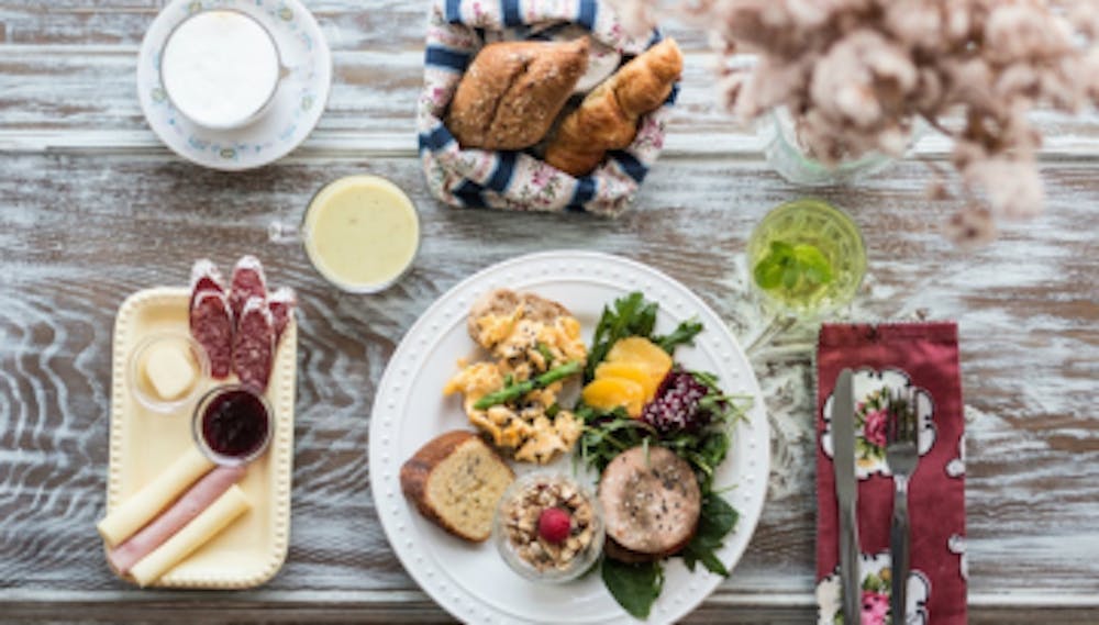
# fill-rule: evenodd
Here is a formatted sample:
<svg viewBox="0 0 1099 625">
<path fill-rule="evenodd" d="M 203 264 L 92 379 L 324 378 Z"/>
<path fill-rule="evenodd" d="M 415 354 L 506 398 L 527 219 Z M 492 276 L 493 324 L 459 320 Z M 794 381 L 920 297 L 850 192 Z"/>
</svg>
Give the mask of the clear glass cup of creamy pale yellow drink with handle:
<svg viewBox="0 0 1099 625">
<path fill-rule="evenodd" d="M 411 269 L 420 248 L 420 217 L 398 186 L 358 175 L 325 185 L 299 226 L 276 222 L 269 234 L 275 242 L 300 241 L 309 261 L 335 287 L 377 293 Z"/>
</svg>

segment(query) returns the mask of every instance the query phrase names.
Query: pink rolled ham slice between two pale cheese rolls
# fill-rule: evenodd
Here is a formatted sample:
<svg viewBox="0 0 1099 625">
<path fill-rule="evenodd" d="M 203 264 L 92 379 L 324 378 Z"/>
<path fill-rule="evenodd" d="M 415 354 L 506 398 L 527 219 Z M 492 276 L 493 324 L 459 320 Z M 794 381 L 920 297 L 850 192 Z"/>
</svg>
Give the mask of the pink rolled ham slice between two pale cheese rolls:
<svg viewBox="0 0 1099 625">
<path fill-rule="evenodd" d="M 120 573 L 126 574 L 142 558 L 182 529 L 203 510 L 217 501 L 245 473 L 244 467 L 218 467 L 195 482 L 176 503 L 125 543 L 107 553 L 107 560 Z"/>
</svg>

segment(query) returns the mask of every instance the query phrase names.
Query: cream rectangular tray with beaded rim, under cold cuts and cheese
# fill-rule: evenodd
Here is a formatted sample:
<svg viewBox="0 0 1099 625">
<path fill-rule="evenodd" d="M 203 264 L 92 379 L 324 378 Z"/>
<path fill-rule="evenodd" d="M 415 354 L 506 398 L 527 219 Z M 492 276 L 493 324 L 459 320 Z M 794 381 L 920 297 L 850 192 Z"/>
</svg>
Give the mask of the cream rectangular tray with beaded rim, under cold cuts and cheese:
<svg viewBox="0 0 1099 625">
<path fill-rule="evenodd" d="M 114 322 L 111 387 L 110 473 L 108 512 L 193 445 L 191 414 L 201 398 L 164 414 L 137 402 L 126 383 L 130 356 L 154 332 L 187 334 L 190 292 L 154 288 L 130 295 Z M 165 573 L 155 585 L 166 588 L 241 589 L 259 585 L 286 560 L 290 535 L 290 476 L 293 465 L 293 398 L 298 326 L 291 319 L 275 356 L 267 401 L 275 411 L 275 435 L 263 457 L 241 481 L 252 510 Z M 202 391 L 235 381 L 206 379 Z"/>
</svg>

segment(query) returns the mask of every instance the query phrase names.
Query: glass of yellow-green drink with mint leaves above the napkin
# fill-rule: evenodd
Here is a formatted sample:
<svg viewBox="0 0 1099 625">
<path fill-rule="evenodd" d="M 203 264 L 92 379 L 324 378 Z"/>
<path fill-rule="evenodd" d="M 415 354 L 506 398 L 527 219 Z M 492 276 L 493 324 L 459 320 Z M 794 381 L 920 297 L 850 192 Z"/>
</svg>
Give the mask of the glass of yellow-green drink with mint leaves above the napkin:
<svg viewBox="0 0 1099 625">
<path fill-rule="evenodd" d="M 773 209 L 747 246 L 752 284 L 780 314 L 815 319 L 850 304 L 866 275 L 858 226 L 836 207 L 812 198 Z"/>
</svg>

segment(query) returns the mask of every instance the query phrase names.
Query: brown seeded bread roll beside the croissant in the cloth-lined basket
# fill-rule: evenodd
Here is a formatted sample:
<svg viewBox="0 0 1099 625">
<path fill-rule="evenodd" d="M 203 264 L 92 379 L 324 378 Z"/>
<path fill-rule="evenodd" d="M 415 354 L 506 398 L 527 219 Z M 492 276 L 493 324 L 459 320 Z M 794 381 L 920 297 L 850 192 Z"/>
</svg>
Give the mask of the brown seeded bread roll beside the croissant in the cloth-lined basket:
<svg viewBox="0 0 1099 625">
<path fill-rule="evenodd" d="M 500 42 L 477 53 L 451 100 L 446 127 L 462 147 L 536 144 L 588 68 L 588 38 Z"/>
</svg>

